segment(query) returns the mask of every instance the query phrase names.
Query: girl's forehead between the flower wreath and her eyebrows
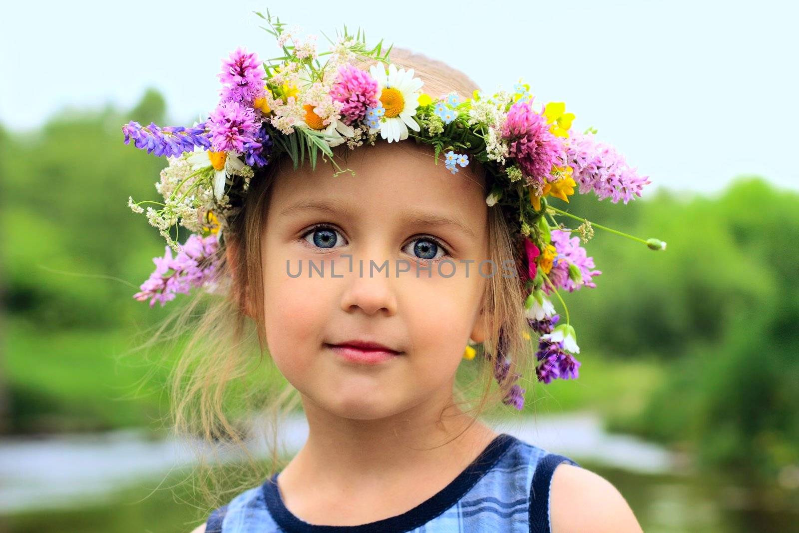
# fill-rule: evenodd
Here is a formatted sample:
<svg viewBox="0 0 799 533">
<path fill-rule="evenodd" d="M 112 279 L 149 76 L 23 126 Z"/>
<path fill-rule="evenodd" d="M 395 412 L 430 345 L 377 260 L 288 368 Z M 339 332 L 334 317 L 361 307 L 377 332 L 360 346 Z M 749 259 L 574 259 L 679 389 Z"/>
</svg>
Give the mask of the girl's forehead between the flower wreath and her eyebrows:
<svg viewBox="0 0 799 533">
<path fill-rule="evenodd" d="M 330 205 L 350 207 L 362 213 L 388 216 L 412 209 L 433 216 L 457 218 L 475 235 L 483 232 L 487 221 L 485 182 L 482 172 L 470 162 L 459 172 L 446 169 L 443 156 L 434 163 L 431 147 L 414 141 L 364 145 L 348 153 L 342 168 L 355 171 L 333 177 L 332 165 L 317 158 L 316 169 L 308 161 L 296 170 L 288 157 L 280 161 L 274 177 L 270 213 L 279 214 L 292 205 L 328 201 Z M 276 208 L 276 209 L 272 209 Z"/>
</svg>

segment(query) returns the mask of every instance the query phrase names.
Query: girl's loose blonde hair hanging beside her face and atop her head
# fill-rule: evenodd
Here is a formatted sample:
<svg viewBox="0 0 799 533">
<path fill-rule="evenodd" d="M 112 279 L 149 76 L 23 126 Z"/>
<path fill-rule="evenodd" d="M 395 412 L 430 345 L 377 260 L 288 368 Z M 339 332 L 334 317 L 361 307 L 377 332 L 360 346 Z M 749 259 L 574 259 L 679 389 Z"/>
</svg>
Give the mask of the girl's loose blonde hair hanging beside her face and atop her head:
<svg viewBox="0 0 799 533">
<path fill-rule="evenodd" d="M 424 82 L 424 92 L 433 97 L 453 91 L 460 97 L 471 97 L 473 90 L 478 89 L 459 70 L 421 54 L 394 48 L 390 59 L 397 66 L 414 69 L 415 76 Z M 368 64 L 362 63 L 361 68 Z M 485 196 L 491 189 L 491 175 L 476 166 L 483 173 Z M 200 444 L 195 475 L 189 479 L 195 482 L 201 495 L 202 512 L 205 512 L 203 505 L 219 507 L 280 469 L 280 420 L 300 404 L 296 390 L 285 383 L 272 358 L 264 357 L 267 344 L 260 235 L 272 177 L 279 168 L 279 164 L 268 165 L 263 173 L 256 174 L 243 211 L 230 222 L 229 232 L 224 236 L 225 250 L 221 250 L 219 257 L 218 294 L 209 298 L 204 292 L 195 291 L 191 296 L 181 296 L 186 300 L 185 305 L 169 316 L 141 347 L 172 340 L 179 353 L 170 379 L 169 426 L 177 436 L 194 437 L 195 443 Z M 494 265 L 503 265 L 503 261 L 514 258 L 520 272 L 522 250 L 518 244 L 514 245 L 510 234 L 510 225 L 519 221 L 499 205 L 487 209 L 488 258 Z M 489 408 L 498 407 L 511 386 L 511 383 L 495 386 L 494 363 L 488 356 L 501 352 L 511 360 L 511 373 L 528 375 L 534 348 L 525 335 L 528 326 L 524 296 L 521 278 L 503 275 L 488 278 L 482 302 L 487 332 L 482 347 L 485 357 L 478 355 L 473 362 L 461 365 L 459 377 L 461 372 L 465 376 L 456 381 L 454 391 L 455 404 L 470 414 L 471 424 Z M 187 340 L 185 332 L 190 332 Z M 266 461 L 257 459 L 252 450 L 254 439 L 248 422 L 252 413 L 268 415 L 271 432 L 264 438 Z M 204 451 L 210 450 L 214 459 L 220 459 L 221 452 L 227 454 L 231 449 L 245 459 L 240 469 L 222 472 L 206 460 Z"/>
</svg>

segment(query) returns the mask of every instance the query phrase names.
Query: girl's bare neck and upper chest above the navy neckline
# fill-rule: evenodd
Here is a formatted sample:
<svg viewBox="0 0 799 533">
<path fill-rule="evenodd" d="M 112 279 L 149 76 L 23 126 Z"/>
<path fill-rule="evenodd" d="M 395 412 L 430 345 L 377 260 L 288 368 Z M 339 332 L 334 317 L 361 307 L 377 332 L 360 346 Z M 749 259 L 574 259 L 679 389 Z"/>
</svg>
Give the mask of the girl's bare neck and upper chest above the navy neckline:
<svg viewBox="0 0 799 533">
<path fill-rule="evenodd" d="M 303 404 L 308 441 L 278 484 L 286 507 L 311 523 L 334 525 L 336 509 L 348 508 L 351 524 L 407 511 L 447 486 L 498 435 L 455 407 L 440 417 L 438 406 L 420 404 L 388 419 L 346 420 L 306 398 Z"/>
</svg>

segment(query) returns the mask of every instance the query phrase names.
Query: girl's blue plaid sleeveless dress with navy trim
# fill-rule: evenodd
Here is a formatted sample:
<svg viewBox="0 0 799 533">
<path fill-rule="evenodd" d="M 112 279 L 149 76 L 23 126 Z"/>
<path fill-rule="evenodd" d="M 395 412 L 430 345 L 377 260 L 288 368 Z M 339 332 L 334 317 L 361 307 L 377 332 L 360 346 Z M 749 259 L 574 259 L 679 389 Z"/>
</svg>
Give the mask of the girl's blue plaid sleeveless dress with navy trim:
<svg viewBox="0 0 799 533">
<path fill-rule="evenodd" d="M 272 475 L 215 509 L 206 533 L 551 533 L 549 494 L 560 463 L 580 466 L 501 433 L 446 487 L 401 515 L 358 526 L 304 522 L 285 507 Z"/>
</svg>

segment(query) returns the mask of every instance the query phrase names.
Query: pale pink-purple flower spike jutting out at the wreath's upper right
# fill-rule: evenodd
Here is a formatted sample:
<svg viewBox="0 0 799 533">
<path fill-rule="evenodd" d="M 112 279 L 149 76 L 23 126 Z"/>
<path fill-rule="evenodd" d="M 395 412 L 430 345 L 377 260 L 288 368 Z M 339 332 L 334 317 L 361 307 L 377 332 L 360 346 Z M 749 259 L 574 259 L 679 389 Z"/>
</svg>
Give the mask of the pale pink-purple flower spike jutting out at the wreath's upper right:
<svg viewBox="0 0 799 533">
<path fill-rule="evenodd" d="M 630 168 L 613 146 L 595 141 L 593 133 L 570 131 L 566 159 L 580 193 L 593 190 L 600 200 L 610 197 L 614 204 L 619 200 L 626 204 L 633 195 L 640 197 L 643 186 L 650 183 L 648 177 L 639 176 L 636 169 Z"/>
</svg>

